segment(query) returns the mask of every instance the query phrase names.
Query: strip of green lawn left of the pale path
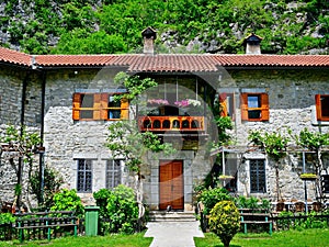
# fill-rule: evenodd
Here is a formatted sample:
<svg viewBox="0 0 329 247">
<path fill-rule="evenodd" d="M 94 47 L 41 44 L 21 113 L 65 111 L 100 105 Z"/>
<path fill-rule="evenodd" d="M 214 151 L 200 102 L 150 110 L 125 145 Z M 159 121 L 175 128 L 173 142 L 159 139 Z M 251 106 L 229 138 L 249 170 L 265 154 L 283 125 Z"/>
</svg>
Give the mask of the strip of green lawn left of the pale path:
<svg viewBox="0 0 329 247">
<path fill-rule="evenodd" d="M 152 238 L 144 237 L 145 233 L 134 235 L 106 235 L 97 237 L 63 237 L 48 240 L 24 242 L 0 242 L 0 247 L 22 246 L 22 247 L 149 247 Z"/>
</svg>

